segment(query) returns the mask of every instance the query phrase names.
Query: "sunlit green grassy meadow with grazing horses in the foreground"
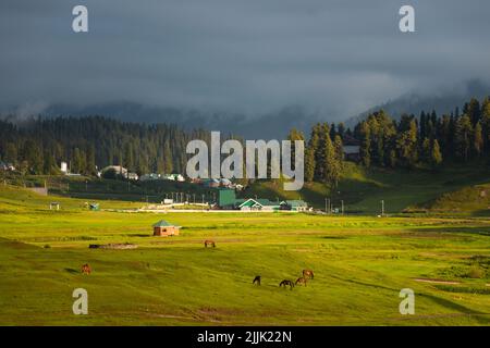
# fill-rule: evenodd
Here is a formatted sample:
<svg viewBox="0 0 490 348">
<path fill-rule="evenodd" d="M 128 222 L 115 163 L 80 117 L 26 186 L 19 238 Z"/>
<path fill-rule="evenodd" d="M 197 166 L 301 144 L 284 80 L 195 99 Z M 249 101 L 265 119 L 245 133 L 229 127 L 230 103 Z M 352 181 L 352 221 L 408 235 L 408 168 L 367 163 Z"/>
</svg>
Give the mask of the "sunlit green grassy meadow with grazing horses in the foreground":
<svg viewBox="0 0 490 348">
<path fill-rule="evenodd" d="M 490 324 L 486 216 L 157 214 L 83 203 L 1 186 L 1 325 Z M 181 235 L 151 236 L 161 219 Z M 139 248 L 88 249 L 109 243 Z M 315 271 L 306 287 L 278 286 L 303 269 Z M 257 274 L 261 286 L 252 285 Z M 87 315 L 72 312 L 75 288 L 88 291 Z M 402 288 L 416 294 L 414 315 L 399 312 Z"/>
</svg>

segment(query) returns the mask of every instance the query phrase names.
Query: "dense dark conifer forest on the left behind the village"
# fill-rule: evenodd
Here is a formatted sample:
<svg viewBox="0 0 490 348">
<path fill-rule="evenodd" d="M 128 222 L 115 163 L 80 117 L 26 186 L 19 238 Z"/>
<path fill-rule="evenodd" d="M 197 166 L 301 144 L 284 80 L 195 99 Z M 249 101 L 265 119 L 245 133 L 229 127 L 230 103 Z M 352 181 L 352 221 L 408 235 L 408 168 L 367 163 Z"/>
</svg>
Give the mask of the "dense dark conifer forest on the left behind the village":
<svg viewBox="0 0 490 348">
<path fill-rule="evenodd" d="M 205 130 L 100 116 L 37 119 L 22 125 L 0 121 L 0 159 L 30 174 L 56 174 L 60 161 L 83 174 L 109 164 L 138 173 L 172 173 L 185 169 L 186 144 L 208 137 Z"/>
</svg>

